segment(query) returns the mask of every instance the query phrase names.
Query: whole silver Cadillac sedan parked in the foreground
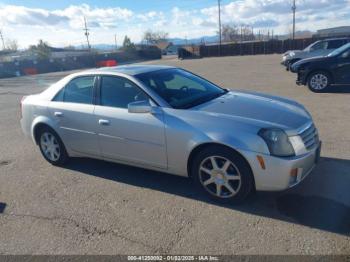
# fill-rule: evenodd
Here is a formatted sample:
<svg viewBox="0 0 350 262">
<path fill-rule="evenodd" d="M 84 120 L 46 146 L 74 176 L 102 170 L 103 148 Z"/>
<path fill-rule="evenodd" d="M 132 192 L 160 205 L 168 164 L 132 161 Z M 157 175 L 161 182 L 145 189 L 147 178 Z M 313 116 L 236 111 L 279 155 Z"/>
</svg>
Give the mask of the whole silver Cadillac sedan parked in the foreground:
<svg viewBox="0 0 350 262">
<path fill-rule="evenodd" d="M 189 176 L 222 201 L 290 188 L 320 155 L 302 105 L 228 91 L 175 67 L 84 71 L 21 108 L 24 133 L 53 165 L 83 156 Z"/>
</svg>

